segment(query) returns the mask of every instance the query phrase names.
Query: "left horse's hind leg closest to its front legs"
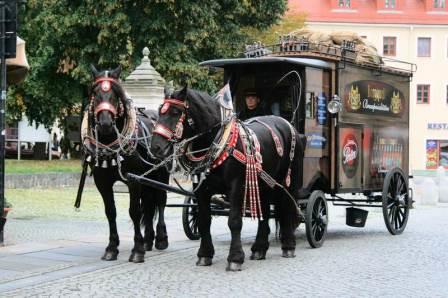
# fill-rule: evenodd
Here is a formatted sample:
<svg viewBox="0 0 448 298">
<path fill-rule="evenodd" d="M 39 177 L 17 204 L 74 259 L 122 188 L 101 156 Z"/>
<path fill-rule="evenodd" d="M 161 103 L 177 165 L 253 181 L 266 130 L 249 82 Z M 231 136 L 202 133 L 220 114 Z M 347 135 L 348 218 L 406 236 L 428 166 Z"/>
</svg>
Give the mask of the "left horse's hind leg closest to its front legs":
<svg viewBox="0 0 448 298">
<path fill-rule="evenodd" d="M 145 225 L 145 236 L 143 237 L 143 246 L 145 251 L 151 251 L 154 243 L 154 215 L 156 211 L 156 202 L 151 198 L 152 188 L 142 186 L 143 203 L 143 222 Z"/>
</svg>

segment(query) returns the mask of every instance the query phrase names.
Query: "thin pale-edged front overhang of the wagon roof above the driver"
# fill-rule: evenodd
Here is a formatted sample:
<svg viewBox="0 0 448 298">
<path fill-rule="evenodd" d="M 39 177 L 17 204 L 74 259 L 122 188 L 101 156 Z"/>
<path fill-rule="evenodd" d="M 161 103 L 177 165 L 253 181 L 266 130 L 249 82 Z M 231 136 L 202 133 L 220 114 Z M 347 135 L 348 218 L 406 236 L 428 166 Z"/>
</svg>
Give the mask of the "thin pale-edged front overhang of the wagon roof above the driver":
<svg viewBox="0 0 448 298">
<path fill-rule="evenodd" d="M 286 62 L 304 66 L 312 66 L 324 69 L 333 69 L 333 62 L 311 59 L 311 58 L 291 58 L 291 57 L 257 57 L 257 58 L 234 58 L 234 59 L 215 59 L 207 60 L 199 63 L 201 66 L 227 67 L 244 64 L 262 64 L 262 63 L 279 63 Z"/>
</svg>

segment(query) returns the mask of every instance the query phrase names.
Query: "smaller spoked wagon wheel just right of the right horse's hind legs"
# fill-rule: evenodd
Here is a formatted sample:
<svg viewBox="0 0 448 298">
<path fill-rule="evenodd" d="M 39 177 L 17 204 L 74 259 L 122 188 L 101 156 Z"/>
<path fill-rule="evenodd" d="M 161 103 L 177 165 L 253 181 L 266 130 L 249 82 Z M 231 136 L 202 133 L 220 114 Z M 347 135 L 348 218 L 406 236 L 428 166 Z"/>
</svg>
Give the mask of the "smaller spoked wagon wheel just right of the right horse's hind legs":
<svg viewBox="0 0 448 298">
<path fill-rule="evenodd" d="M 308 243 L 321 247 L 327 235 L 328 206 L 325 194 L 320 190 L 311 193 L 306 205 L 305 228 Z"/>
</svg>

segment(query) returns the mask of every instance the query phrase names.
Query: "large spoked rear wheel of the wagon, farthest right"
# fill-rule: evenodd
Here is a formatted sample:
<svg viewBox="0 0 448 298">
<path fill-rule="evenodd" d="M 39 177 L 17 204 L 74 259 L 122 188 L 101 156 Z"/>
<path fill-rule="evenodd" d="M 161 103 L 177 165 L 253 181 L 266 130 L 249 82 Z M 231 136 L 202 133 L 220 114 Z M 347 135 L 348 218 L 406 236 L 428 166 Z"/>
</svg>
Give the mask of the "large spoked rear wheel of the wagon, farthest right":
<svg viewBox="0 0 448 298">
<path fill-rule="evenodd" d="M 384 178 L 383 216 L 392 235 L 403 233 L 409 217 L 409 188 L 400 168 L 390 170 Z"/>
</svg>

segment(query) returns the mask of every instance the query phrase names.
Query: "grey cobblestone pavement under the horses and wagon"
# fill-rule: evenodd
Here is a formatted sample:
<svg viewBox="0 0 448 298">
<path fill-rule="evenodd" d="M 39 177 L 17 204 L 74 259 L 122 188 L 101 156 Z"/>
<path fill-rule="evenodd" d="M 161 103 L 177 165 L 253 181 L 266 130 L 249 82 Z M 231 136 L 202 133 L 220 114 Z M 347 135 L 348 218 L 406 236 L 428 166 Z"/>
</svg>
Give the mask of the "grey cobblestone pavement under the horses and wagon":
<svg viewBox="0 0 448 298">
<path fill-rule="evenodd" d="M 194 264 L 199 243 L 185 240 L 180 210 L 170 212 L 169 249 L 164 252 L 148 252 L 143 264 L 126 262 L 130 245 L 127 243 L 125 246 L 128 247 L 120 252 L 119 261 L 108 263 L 107 267 L 100 268 L 98 265 L 82 272 L 75 270 L 69 276 L 53 275 L 46 282 L 35 276 L 34 282 L 32 278 L 22 277 L 23 281 L 29 281 L 28 285 L 22 283 L 26 286 L 19 286 L 18 280 L 10 283 L 0 281 L 0 289 L 3 286 L 3 291 L 10 285 L 10 291 L 2 292 L 0 296 L 448 296 L 447 206 L 418 206 L 411 211 L 408 227 L 400 236 L 391 236 L 387 232 L 382 214 L 378 211 L 370 212 L 366 227 L 357 229 L 345 225 L 343 209 L 332 208 L 328 237 L 323 247 L 309 248 L 304 227 L 301 226 L 297 231 L 298 245 L 294 259 L 282 258 L 280 244 L 273 239 L 266 260 L 248 260 L 256 225 L 245 220 L 243 234 L 247 258 L 241 272 L 225 271 L 230 237 L 225 218 L 213 221 L 216 249 L 213 265 L 196 267 Z M 81 226 L 84 229 L 86 223 Z M 88 228 L 92 228 L 92 225 Z M 75 231 L 79 227 L 71 229 Z M 92 237 L 100 232 L 104 233 L 104 229 L 94 227 L 88 230 Z M 130 232 L 127 233 L 129 235 L 126 237 L 130 237 Z M 75 234 L 72 235 L 76 238 Z M 98 248 L 99 257 L 104 248 L 98 244 L 95 247 Z M 104 263 L 95 261 L 95 264 Z M 67 269 L 59 270 L 63 272 Z"/>
</svg>

